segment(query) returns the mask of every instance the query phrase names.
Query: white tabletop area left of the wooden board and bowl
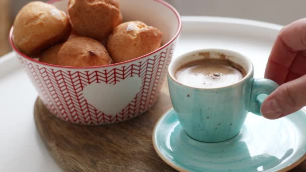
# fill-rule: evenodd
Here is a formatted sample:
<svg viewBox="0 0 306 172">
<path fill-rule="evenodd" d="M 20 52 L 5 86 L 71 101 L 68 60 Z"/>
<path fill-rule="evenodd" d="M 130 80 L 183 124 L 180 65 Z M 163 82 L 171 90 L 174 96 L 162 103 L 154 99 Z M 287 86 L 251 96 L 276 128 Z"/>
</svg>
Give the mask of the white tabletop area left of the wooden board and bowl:
<svg viewBox="0 0 306 172">
<path fill-rule="evenodd" d="M 12 59 L 11 54 L 0 62 Z M 10 59 L 8 59 L 10 58 Z M 43 144 L 34 124 L 38 96 L 24 70 L 0 76 L 0 171 L 62 171 Z"/>
</svg>

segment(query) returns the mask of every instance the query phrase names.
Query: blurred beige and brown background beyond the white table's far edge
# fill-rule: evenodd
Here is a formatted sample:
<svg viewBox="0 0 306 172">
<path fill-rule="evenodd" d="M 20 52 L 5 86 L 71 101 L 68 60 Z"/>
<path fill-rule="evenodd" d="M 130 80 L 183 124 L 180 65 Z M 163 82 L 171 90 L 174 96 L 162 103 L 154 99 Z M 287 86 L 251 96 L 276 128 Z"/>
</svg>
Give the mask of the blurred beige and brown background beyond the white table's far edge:
<svg viewBox="0 0 306 172">
<path fill-rule="evenodd" d="M 143 0 L 147 1 L 147 0 Z M 305 0 L 166 0 L 182 16 L 220 16 L 287 25 L 304 18 Z M 0 56 L 11 51 L 8 33 L 18 11 L 29 0 L 0 0 Z"/>
</svg>

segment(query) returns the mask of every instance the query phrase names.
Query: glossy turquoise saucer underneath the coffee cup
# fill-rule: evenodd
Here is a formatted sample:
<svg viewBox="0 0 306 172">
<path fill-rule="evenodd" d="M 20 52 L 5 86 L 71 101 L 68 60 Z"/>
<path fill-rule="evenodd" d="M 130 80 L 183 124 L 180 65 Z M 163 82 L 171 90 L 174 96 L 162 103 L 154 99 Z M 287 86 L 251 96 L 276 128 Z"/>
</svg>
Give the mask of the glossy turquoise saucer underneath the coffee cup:
<svg viewBox="0 0 306 172">
<path fill-rule="evenodd" d="M 204 143 L 185 133 L 171 109 L 156 124 L 153 144 L 179 171 L 287 171 L 306 158 L 306 114 L 268 120 L 249 113 L 237 136 Z"/>
</svg>

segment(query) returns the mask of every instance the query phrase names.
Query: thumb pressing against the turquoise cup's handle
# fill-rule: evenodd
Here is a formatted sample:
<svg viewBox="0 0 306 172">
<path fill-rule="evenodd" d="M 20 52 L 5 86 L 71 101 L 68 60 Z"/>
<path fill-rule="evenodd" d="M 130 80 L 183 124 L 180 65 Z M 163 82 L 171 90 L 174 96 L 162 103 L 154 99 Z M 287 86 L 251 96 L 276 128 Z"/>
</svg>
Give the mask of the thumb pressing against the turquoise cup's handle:
<svg viewBox="0 0 306 172">
<path fill-rule="evenodd" d="M 306 105 L 306 75 L 280 85 L 261 106 L 261 114 L 277 119 L 291 114 Z"/>
</svg>

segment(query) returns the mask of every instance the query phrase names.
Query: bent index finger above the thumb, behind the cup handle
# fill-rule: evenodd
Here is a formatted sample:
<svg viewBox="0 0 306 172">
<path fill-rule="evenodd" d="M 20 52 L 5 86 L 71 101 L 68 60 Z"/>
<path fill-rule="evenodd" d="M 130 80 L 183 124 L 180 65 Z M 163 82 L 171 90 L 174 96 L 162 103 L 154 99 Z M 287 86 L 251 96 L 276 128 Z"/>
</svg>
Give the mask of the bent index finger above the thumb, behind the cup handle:
<svg viewBox="0 0 306 172">
<path fill-rule="evenodd" d="M 285 26 L 277 36 L 266 66 L 265 77 L 285 82 L 289 68 L 301 50 L 306 50 L 306 19 Z"/>
</svg>

